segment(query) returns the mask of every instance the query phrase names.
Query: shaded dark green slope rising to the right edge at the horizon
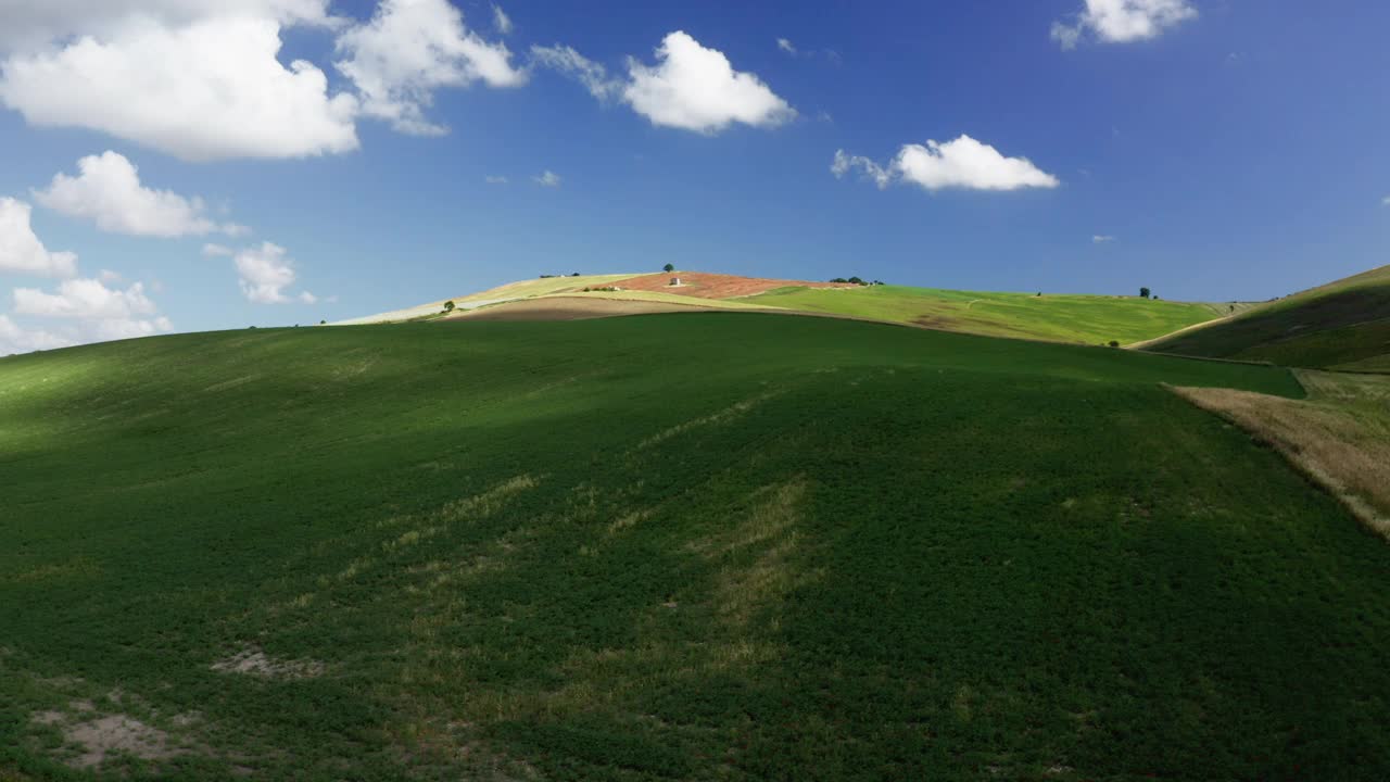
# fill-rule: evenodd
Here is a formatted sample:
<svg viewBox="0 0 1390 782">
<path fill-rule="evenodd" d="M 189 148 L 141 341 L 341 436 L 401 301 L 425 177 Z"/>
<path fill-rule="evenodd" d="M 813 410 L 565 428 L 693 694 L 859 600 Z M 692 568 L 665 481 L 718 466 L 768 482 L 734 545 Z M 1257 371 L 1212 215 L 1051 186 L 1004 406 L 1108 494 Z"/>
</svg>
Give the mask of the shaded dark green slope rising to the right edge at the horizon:
<svg viewBox="0 0 1390 782">
<path fill-rule="evenodd" d="M 1145 349 L 1390 372 L 1390 266 L 1304 291 Z"/>
</svg>

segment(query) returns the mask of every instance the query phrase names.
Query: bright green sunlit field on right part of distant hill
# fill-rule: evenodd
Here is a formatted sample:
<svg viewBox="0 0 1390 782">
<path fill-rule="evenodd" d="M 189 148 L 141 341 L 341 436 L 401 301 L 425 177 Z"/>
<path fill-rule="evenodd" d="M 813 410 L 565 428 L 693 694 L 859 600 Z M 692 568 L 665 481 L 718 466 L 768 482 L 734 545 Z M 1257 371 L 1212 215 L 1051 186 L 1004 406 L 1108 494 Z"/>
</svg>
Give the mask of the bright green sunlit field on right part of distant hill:
<svg viewBox="0 0 1390 782">
<path fill-rule="evenodd" d="M 755 305 L 910 323 L 945 331 L 1059 342 L 1151 340 L 1216 317 L 1209 305 L 1137 296 L 984 294 L 902 285 L 784 288 L 742 299 Z"/>
</svg>

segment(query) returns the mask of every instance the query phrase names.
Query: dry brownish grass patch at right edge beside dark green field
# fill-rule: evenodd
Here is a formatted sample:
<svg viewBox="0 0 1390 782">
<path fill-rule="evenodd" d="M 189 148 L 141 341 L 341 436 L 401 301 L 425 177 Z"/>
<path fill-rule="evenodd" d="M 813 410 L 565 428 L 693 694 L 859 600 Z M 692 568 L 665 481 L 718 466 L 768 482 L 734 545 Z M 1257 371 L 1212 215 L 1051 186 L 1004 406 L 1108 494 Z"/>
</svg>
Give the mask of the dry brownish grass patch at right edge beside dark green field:
<svg viewBox="0 0 1390 782">
<path fill-rule="evenodd" d="M 1273 445 L 1368 527 L 1390 538 L 1390 377 L 1298 370 L 1308 399 L 1175 388 Z"/>
</svg>

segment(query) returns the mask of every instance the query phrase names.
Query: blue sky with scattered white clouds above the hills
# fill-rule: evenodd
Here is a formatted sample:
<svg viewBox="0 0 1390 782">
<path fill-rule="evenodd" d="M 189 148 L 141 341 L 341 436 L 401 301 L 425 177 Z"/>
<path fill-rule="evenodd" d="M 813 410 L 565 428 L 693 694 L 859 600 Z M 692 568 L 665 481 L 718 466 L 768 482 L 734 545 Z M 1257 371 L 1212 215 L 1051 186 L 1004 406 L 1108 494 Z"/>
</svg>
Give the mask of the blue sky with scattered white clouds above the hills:
<svg viewBox="0 0 1390 782">
<path fill-rule="evenodd" d="M 1193 301 L 1386 263 L 1390 6 L 500 10 L 0 0 L 0 353 L 664 263 Z"/>
</svg>

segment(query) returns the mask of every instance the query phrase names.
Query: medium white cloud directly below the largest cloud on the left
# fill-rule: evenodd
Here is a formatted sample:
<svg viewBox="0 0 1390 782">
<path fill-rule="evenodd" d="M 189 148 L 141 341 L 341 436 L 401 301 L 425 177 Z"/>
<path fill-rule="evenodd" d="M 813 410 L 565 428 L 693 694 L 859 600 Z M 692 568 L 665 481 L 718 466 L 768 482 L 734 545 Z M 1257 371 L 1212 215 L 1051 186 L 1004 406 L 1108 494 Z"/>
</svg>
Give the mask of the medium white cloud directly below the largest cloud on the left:
<svg viewBox="0 0 1390 782">
<path fill-rule="evenodd" d="M 35 200 L 64 214 L 90 217 L 113 234 L 172 238 L 245 231 L 208 220 L 200 198 L 142 186 L 135 164 L 114 152 L 78 160 L 78 171 L 76 177 L 53 177 L 49 189 L 33 192 Z"/>
</svg>

